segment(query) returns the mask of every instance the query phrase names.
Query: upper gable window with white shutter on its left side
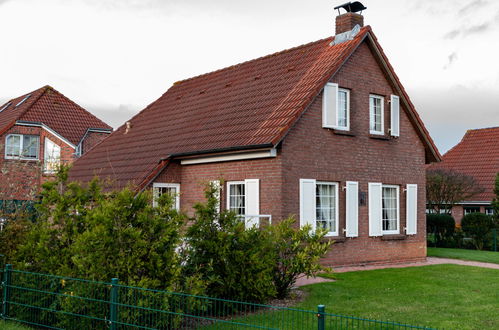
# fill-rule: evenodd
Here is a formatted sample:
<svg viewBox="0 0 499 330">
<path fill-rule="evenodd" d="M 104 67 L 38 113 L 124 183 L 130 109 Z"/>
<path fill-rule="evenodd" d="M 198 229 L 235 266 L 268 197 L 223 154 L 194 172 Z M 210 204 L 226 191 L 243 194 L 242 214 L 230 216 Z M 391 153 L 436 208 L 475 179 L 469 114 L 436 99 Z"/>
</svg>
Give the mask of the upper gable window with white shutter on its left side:
<svg viewBox="0 0 499 330">
<path fill-rule="evenodd" d="M 350 130 L 350 91 L 327 83 L 322 98 L 322 127 Z"/>
</svg>

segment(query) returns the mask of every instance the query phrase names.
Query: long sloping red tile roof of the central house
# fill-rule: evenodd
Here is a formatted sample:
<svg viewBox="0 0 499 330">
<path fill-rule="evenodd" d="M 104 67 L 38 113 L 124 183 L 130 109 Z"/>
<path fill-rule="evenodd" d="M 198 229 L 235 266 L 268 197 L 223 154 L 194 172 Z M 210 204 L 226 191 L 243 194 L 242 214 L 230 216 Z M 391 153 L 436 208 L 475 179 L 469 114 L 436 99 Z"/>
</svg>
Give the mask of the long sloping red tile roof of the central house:
<svg viewBox="0 0 499 330">
<path fill-rule="evenodd" d="M 142 185 L 176 154 L 275 146 L 369 33 L 363 27 L 338 45 L 322 39 L 177 82 L 130 120 L 128 133 L 121 126 L 80 158 L 70 176 Z"/>
</svg>

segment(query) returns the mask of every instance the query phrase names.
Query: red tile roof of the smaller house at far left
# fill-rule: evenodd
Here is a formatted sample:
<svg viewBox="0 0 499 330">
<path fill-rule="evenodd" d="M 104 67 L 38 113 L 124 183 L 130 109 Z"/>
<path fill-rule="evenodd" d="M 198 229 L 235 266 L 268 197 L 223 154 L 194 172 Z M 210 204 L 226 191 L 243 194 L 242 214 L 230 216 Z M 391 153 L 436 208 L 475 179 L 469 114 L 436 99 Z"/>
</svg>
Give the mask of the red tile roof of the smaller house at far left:
<svg viewBox="0 0 499 330">
<path fill-rule="evenodd" d="M 28 95 L 26 101 L 16 107 Z M 9 102 L 10 105 L 0 112 L 0 134 L 10 129 L 16 121 L 36 122 L 43 123 L 77 145 L 88 128 L 112 129 L 50 86 L 44 86 Z M 0 106 L 0 109 L 5 105 Z"/>
</svg>

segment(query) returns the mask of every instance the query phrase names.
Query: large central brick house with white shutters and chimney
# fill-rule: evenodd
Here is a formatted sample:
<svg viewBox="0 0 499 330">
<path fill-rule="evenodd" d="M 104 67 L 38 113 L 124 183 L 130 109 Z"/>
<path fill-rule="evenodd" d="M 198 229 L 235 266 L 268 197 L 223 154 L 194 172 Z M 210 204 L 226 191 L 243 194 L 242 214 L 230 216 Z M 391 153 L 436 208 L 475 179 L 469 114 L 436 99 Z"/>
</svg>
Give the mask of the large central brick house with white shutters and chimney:
<svg viewBox="0 0 499 330">
<path fill-rule="evenodd" d="M 175 193 L 188 214 L 212 181 L 248 225 L 326 228 L 327 264 L 424 259 L 425 164 L 440 155 L 362 25 L 346 13 L 335 37 L 175 83 L 70 178 Z"/>
</svg>

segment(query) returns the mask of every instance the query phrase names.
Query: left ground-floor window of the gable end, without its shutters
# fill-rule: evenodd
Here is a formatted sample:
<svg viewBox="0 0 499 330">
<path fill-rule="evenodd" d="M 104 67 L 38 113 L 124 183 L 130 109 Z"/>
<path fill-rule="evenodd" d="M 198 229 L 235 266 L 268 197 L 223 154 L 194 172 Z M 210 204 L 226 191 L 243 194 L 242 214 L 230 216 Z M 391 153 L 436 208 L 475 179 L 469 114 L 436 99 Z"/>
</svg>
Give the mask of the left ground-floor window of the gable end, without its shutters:
<svg viewBox="0 0 499 330">
<path fill-rule="evenodd" d="M 336 189 L 332 184 L 316 185 L 316 226 L 336 232 Z"/>
</svg>

